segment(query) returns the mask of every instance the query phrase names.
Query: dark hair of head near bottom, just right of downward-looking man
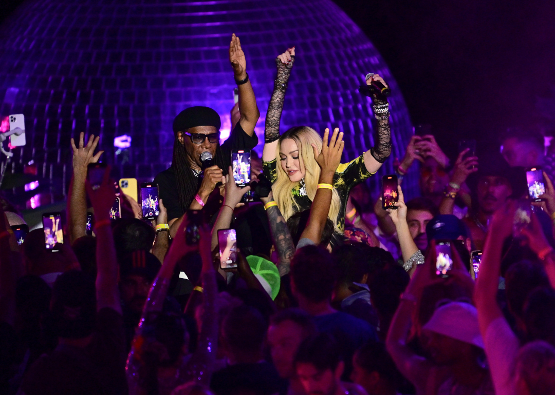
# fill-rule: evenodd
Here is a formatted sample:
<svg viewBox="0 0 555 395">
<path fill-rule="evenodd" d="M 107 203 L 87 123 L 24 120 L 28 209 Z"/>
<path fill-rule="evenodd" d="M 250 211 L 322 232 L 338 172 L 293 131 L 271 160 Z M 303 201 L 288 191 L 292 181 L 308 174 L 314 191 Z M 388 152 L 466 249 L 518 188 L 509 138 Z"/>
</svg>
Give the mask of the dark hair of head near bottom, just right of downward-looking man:
<svg viewBox="0 0 555 395">
<path fill-rule="evenodd" d="M 397 370 L 395 362 L 387 352 L 384 343 L 370 341 L 355 354 L 356 364 L 366 372 L 378 372 L 391 387 L 403 382 L 403 376 Z"/>
</svg>

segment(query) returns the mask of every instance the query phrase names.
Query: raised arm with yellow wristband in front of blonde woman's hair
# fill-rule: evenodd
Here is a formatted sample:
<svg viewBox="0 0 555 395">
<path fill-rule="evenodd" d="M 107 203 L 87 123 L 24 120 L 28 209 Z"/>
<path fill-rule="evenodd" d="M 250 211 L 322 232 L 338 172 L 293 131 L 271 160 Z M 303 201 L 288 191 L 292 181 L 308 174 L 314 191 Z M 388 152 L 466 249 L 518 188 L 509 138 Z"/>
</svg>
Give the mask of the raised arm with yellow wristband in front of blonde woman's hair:
<svg viewBox="0 0 555 395">
<path fill-rule="evenodd" d="M 330 130 L 326 129 L 324 132 L 324 141 L 322 142 L 322 151 L 318 152 L 318 148 L 312 144 L 312 151 L 314 151 L 314 158 L 320 166 L 320 178 L 318 179 L 318 189 L 310 206 L 310 216 L 306 228 L 302 231 L 301 239 L 307 238 L 312 240 L 314 244 L 320 244 L 322 239 L 322 232 L 327 221 L 327 214 L 330 211 L 332 187 L 334 182 L 335 171 L 339 162 L 341 161 L 341 154 L 345 141 L 343 141 L 343 132 L 335 128 L 334 134 L 331 136 L 328 145 L 327 138 Z M 326 185 L 327 184 L 327 185 Z M 320 187 L 322 186 L 322 187 Z"/>
</svg>

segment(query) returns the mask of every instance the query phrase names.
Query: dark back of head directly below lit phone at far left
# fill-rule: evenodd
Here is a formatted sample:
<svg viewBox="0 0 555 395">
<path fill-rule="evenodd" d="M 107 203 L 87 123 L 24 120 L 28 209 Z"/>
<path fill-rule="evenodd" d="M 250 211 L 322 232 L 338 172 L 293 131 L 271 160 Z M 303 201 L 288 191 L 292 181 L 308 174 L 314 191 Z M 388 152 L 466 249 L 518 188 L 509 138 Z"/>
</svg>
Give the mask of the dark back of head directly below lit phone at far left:
<svg viewBox="0 0 555 395">
<path fill-rule="evenodd" d="M 78 261 L 70 245 L 58 244 L 58 247 L 56 253 L 46 249 L 42 228 L 29 232 L 22 244 L 27 274 L 41 276 L 48 273 L 62 273 L 77 268 Z"/>
</svg>

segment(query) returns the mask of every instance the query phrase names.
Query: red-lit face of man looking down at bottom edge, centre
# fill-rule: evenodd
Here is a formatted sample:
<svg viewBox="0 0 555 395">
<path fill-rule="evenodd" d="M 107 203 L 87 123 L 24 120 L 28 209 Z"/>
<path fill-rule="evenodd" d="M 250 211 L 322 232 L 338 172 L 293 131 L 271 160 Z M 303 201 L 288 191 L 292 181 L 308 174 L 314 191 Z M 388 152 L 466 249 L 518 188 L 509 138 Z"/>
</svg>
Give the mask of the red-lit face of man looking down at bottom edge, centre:
<svg viewBox="0 0 555 395">
<path fill-rule="evenodd" d="M 333 395 L 340 386 L 343 373 L 343 362 L 334 371 L 326 369 L 319 371 L 312 363 L 299 362 L 296 364 L 297 376 L 307 395 Z"/>
</svg>

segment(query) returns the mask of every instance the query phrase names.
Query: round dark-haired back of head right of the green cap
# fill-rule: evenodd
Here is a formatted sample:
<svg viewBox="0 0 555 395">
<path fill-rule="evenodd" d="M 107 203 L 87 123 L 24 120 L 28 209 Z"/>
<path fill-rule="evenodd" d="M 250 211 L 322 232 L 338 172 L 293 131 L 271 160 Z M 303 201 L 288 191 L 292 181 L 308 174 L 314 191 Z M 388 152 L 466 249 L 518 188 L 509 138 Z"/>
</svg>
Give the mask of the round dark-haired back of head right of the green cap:
<svg viewBox="0 0 555 395">
<path fill-rule="evenodd" d="M 311 302 L 331 298 L 336 281 L 336 265 L 322 247 L 307 245 L 296 251 L 291 260 L 291 279 L 295 290 Z"/>
</svg>

